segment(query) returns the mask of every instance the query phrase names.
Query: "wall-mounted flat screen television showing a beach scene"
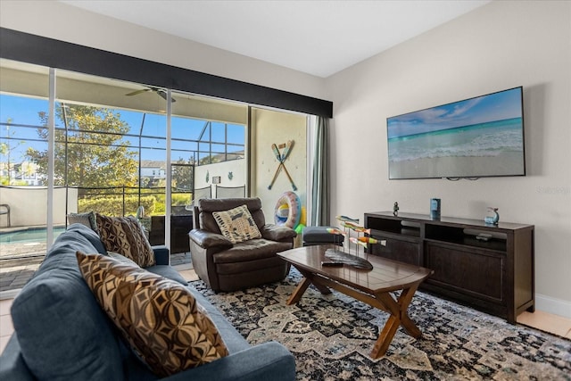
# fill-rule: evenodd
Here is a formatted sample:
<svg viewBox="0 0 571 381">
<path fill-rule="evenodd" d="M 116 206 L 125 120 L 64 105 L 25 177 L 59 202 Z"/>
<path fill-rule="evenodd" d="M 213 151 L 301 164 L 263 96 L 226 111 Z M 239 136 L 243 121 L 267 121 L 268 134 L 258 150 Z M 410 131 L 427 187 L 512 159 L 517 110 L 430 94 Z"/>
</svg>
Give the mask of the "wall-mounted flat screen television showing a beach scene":
<svg viewBox="0 0 571 381">
<path fill-rule="evenodd" d="M 525 176 L 523 88 L 387 118 L 389 179 Z"/>
</svg>

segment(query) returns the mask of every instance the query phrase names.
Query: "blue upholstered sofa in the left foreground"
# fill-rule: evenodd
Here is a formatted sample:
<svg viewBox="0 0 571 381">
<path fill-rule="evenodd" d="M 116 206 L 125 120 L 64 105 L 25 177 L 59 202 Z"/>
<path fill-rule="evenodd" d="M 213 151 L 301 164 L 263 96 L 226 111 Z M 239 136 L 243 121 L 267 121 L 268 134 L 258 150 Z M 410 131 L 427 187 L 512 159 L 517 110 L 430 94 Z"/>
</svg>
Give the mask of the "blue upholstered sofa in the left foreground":
<svg viewBox="0 0 571 381">
<path fill-rule="evenodd" d="M 186 286 L 169 266 L 166 248 L 153 248 L 149 271 Z M 12 303 L 14 334 L 0 357 L 2 380 L 153 380 L 99 307 L 79 272 L 76 251 L 102 253 L 99 236 L 81 224 L 58 236 L 46 260 Z M 276 342 L 252 346 L 202 294 L 188 286 L 208 311 L 228 346 L 227 357 L 164 378 L 169 380 L 293 380 L 294 356 Z"/>
</svg>

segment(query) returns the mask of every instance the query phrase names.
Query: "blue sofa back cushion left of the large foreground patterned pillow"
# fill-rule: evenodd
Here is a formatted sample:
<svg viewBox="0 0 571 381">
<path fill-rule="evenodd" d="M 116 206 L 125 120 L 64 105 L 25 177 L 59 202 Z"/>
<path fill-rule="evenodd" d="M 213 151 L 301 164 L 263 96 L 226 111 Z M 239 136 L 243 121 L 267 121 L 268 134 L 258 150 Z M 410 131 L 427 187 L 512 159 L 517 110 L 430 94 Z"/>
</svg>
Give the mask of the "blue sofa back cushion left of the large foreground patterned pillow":
<svg viewBox="0 0 571 381">
<path fill-rule="evenodd" d="M 81 276 L 75 255 L 78 248 L 95 253 L 84 236 L 90 233 L 95 235 L 75 224 L 58 236 L 12 303 L 21 354 L 37 379 L 123 378 L 114 327 Z"/>
</svg>

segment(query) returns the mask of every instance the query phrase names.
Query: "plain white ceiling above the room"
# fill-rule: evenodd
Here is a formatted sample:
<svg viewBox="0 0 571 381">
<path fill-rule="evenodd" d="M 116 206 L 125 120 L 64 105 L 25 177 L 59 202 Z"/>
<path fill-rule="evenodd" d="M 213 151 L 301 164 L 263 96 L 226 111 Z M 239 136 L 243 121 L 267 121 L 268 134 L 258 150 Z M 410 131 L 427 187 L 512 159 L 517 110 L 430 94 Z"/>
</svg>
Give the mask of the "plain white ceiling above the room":
<svg viewBox="0 0 571 381">
<path fill-rule="evenodd" d="M 326 78 L 492 0 L 62 0 Z"/>
</svg>

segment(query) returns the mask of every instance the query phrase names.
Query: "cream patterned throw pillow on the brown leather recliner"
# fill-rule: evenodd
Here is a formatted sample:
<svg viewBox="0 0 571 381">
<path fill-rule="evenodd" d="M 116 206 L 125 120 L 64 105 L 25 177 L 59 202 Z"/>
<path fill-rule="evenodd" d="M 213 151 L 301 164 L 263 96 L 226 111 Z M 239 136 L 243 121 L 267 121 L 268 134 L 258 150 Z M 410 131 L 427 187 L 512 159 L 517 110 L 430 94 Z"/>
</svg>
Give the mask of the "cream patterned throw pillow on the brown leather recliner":
<svg viewBox="0 0 571 381">
<path fill-rule="evenodd" d="M 246 205 L 238 206 L 229 211 L 213 211 L 212 217 L 216 220 L 223 236 L 233 244 L 261 238 L 260 229 L 252 219 L 252 214 Z"/>
</svg>

